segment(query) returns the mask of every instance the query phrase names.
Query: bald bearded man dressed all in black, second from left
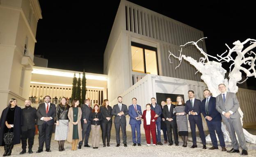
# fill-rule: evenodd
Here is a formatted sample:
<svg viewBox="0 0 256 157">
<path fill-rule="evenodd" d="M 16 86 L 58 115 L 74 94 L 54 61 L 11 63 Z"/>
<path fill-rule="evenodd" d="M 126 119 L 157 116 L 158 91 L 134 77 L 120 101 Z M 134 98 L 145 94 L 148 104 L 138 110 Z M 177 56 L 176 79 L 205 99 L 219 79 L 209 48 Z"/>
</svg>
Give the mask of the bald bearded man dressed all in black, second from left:
<svg viewBox="0 0 256 157">
<path fill-rule="evenodd" d="M 35 120 L 37 119 L 37 109 L 31 107 L 31 101 L 25 100 L 25 108 L 22 109 L 23 123 L 21 126 L 21 144 L 22 151 L 20 154 L 26 153 L 28 142 L 28 153 L 33 153 L 32 146 L 34 144 Z M 28 141 L 27 141 L 28 139 Z"/>
</svg>

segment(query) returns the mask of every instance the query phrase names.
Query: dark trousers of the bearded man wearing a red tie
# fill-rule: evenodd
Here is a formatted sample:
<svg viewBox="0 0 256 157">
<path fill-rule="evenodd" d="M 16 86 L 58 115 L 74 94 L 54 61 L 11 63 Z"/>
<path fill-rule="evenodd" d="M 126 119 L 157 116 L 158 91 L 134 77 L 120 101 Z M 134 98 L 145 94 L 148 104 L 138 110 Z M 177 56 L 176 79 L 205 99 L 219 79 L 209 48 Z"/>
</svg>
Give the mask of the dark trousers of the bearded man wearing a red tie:
<svg viewBox="0 0 256 157">
<path fill-rule="evenodd" d="M 50 149 L 50 140 L 52 138 L 53 126 L 43 123 L 38 126 L 39 130 L 39 147 L 38 149 L 43 149 L 44 142 L 46 143 L 46 149 Z"/>
</svg>

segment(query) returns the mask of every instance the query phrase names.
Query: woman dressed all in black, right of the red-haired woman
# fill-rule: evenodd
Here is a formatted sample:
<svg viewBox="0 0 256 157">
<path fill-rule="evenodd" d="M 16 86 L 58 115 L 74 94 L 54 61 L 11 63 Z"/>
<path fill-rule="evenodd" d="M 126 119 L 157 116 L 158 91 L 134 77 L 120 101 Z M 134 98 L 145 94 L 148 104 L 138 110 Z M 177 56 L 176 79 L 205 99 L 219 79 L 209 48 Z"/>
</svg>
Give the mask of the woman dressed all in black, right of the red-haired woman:
<svg viewBox="0 0 256 157">
<path fill-rule="evenodd" d="M 103 147 L 106 146 L 106 137 L 107 137 L 107 146 L 110 146 L 110 131 L 112 127 L 112 107 L 109 106 L 107 99 L 103 100 L 102 106 L 100 107 L 102 121 L 101 121 L 101 132 L 102 132 L 102 142 Z"/>
</svg>

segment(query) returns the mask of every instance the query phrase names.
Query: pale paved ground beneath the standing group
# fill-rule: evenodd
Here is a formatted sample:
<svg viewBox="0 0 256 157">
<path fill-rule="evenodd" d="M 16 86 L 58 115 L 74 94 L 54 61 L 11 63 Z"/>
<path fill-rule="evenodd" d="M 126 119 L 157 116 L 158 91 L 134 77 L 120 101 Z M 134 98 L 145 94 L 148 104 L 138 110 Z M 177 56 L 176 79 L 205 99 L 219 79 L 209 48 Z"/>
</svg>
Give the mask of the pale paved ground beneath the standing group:
<svg viewBox="0 0 256 157">
<path fill-rule="evenodd" d="M 72 151 L 71 144 L 65 143 L 65 151 L 58 151 L 58 143 L 54 140 L 54 134 L 51 142 L 51 150 L 52 152 L 43 151 L 42 153 L 35 153 L 38 148 L 38 135 L 35 136 L 33 154 L 24 154 L 19 155 L 21 152 L 21 144 L 15 145 L 13 149 L 12 156 L 13 157 L 240 157 L 241 153 L 226 153 L 219 150 L 203 150 L 202 145 L 198 144 L 198 148 L 190 148 L 192 145 L 191 142 L 188 142 L 188 147 L 182 147 L 183 142 L 179 139 L 180 146 L 168 146 L 168 144 L 164 144 L 164 146 L 146 146 L 145 136 L 142 135 L 142 146 L 132 146 L 132 137 L 131 132 L 127 131 L 127 139 L 128 139 L 128 147 L 123 147 L 121 144 L 120 147 L 115 147 L 115 129 L 112 127 L 112 137 L 110 140 L 110 147 L 103 147 L 102 140 L 100 142 L 100 147 L 98 149 L 92 149 L 82 147 L 81 150 Z M 162 137 L 163 139 L 163 137 Z M 162 140 L 163 142 L 163 140 Z M 89 138 L 89 145 L 91 145 L 91 137 Z M 231 149 L 230 143 L 226 143 L 228 146 L 227 149 Z M 248 157 L 256 156 L 256 144 L 248 144 L 249 147 L 249 155 Z M 207 145 L 207 148 L 210 148 L 210 145 Z M 4 152 L 4 148 L 0 147 L 0 155 Z"/>
</svg>

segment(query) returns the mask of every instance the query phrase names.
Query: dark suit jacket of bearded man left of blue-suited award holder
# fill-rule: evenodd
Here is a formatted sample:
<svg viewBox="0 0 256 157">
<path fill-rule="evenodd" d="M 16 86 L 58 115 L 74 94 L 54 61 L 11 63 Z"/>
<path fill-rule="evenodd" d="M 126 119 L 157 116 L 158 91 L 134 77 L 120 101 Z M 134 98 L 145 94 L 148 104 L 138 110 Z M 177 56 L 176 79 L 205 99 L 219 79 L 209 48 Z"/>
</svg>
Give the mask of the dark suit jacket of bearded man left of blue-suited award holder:
<svg viewBox="0 0 256 157">
<path fill-rule="evenodd" d="M 121 117 L 119 115 L 117 115 L 119 112 L 123 111 L 124 115 L 121 115 Z M 122 104 L 122 108 L 121 111 L 119 109 L 118 104 L 115 104 L 113 106 L 112 109 L 112 115 L 114 115 L 114 123 L 119 123 L 119 121 L 121 121 L 121 123 L 126 123 L 126 115 L 128 115 L 128 109 L 127 106 L 125 104 Z"/>
</svg>

